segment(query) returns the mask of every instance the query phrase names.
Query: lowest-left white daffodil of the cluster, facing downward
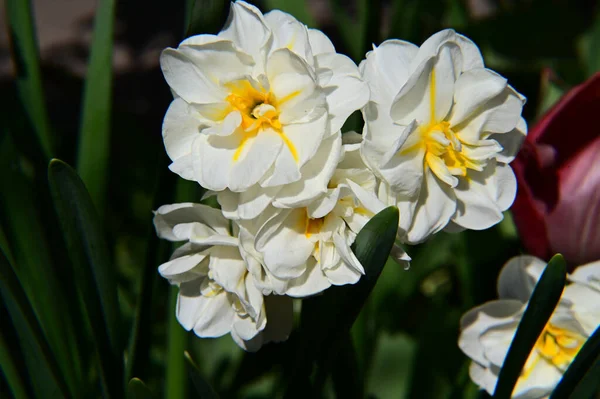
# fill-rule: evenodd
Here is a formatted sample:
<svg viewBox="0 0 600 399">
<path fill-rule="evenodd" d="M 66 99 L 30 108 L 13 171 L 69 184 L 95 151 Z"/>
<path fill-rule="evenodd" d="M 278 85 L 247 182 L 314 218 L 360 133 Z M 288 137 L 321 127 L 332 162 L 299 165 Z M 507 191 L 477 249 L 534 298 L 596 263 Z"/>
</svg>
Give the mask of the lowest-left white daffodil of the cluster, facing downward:
<svg viewBox="0 0 600 399">
<path fill-rule="evenodd" d="M 287 339 L 290 298 L 263 298 L 240 255 L 237 227 L 217 209 L 192 203 L 161 206 L 154 216 L 159 237 L 185 241 L 158 271 L 179 286 L 177 320 L 199 337 L 231 333 L 248 351 Z M 267 317 L 269 325 L 267 326 Z"/>
</svg>

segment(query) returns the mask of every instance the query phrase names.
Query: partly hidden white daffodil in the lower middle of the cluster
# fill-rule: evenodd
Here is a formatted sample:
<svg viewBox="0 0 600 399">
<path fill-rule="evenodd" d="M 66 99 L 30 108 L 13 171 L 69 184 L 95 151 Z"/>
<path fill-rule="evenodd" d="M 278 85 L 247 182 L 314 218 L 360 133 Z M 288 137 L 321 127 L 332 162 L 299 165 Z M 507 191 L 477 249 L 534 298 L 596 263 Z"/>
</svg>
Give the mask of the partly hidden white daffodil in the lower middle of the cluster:
<svg viewBox="0 0 600 399">
<path fill-rule="evenodd" d="M 327 192 L 306 207 L 271 206 L 259 219 L 240 222 L 242 254 L 263 293 L 304 297 L 332 284 L 354 284 L 364 274 L 350 246 L 384 204 L 359 146 L 344 145 Z"/>
</svg>

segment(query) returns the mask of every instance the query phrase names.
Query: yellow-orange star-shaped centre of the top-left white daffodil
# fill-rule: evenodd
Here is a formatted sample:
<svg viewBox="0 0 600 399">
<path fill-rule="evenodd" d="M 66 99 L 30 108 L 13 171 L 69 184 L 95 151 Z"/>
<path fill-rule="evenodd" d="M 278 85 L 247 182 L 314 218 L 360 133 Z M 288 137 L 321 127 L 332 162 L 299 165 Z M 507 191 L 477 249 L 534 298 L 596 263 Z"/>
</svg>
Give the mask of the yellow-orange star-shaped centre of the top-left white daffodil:
<svg viewBox="0 0 600 399">
<path fill-rule="evenodd" d="M 229 95 L 225 98 L 230 105 L 228 112 L 234 110 L 240 112 L 242 115 L 241 127 L 245 132 L 244 138 L 233 155 L 233 160 L 239 159 L 244 145 L 250 138 L 255 137 L 266 128 L 271 128 L 281 137 L 294 160 L 298 162 L 298 151 L 283 132 L 279 120 L 279 106 L 296 97 L 300 92 L 293 92 L 277 101 L 272 92 L 265 90 L 262 86 L 256 87 L 248 80 L 230 82 L 225 84 L 225 87 L 229 90 Z"/>
</svg>

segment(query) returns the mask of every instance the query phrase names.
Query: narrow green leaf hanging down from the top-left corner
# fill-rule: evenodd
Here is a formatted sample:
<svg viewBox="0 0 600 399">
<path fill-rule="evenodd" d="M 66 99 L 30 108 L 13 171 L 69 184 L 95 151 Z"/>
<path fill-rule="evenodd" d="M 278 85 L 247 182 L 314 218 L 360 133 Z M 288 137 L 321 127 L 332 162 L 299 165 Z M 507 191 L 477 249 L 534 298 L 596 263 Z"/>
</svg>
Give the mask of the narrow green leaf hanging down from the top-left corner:
<svg viewBox="0 0 600 399">
<path fill-rule="evenodd" d="M 30 0 L 6 0 L 17 88 L 23 108 L 31 121 L 47 159 L 53 153 L 50 122 L 44 103 L 39 51 Z"/>
</svg>

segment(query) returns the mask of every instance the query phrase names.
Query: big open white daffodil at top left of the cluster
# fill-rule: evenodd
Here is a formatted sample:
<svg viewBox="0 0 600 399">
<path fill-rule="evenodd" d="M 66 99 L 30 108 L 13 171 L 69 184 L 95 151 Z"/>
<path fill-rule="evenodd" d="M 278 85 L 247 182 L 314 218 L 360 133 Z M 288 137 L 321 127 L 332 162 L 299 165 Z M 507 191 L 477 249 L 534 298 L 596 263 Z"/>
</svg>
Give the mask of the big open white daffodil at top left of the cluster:
<svg viewBox="0 0 600 399">
<path fill-rule="evenodd" d="M 161 68 L 175 97 L 163 123 L 170 169 L 238 193 L 244 209 L 229 212 L 246 219 L 276 197 L 295 206 L 324 192 L 340 152 L 331 138 L 369 98 L 323 33 L 242 1 L 218 35 L 164 50 Z"/>
</svg>

